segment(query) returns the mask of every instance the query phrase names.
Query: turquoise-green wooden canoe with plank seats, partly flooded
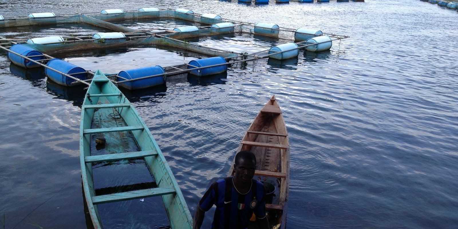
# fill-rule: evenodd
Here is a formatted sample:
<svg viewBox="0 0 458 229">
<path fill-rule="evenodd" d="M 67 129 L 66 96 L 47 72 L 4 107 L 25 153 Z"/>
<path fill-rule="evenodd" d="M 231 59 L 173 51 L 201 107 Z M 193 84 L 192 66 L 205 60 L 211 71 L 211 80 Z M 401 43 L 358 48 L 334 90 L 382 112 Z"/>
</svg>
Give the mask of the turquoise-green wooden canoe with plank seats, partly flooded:
<svg viewBox="0 0 458 229">
<path fill-rule="evenodd" d="M 99 120 L 99 117 L 102 117 L 103 114 L 114 117 L 114 122 Z M 98 122 L 98 125 L 94 125 L 94 122 Z M 104 136 L 106 147 L 110 147 L 110 149 L 119 148 L 120 152 L 110 150 L 110 153 L 107 154 L 91 155 L 91 148 L 95 145 L 94 141 L 97 136 Z M 122 138 L 124 139 L 118 139 L 120 136 L 123 136 Z M 122 141 L 129 136 L 133 138 L 131 143 L 134 142 L 136 144 L 137 150 L 134 152 L 126 150 L 126 144 L 122 146 Z M 93 164 L 127 161 L 134 158 L 144 160 L 157 187 L 96 196 L 93 181 Z M 183 194 L 158 144 L 129 100 L 100 71 L 96 71 L 82 105 L 80 162 L 85 200 L 95 229 L 103 228 L 98 212 L 98 204 L 151 196 L 162 197 L 172 229 L 192 228 L 191 214 Z M 129 170 L 125 171 L 125 173 L 130 172 Z M 126 212 L 126 214 L 129 214 L 129 212 Z"/>
</svg>

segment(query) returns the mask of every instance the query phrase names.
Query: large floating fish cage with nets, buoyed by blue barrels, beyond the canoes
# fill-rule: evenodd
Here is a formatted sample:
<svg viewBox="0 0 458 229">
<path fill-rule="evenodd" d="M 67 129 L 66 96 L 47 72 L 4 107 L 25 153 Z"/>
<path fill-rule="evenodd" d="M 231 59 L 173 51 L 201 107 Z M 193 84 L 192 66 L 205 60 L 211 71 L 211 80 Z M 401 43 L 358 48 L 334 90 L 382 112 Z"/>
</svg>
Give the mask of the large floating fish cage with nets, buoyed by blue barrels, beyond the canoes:
<svg viewBox="0 0 458 229">
<path fill-rule="evenodd" d="M 268 1 L 267 1 L 268 2 Z M 173 30 L 154 28 L 150 30 L 135 30 L 120 26 L 109 21 L 114 19 L 136 18 L 177 18 L 201 26 L 175 27 Z M 109 33 L 94 33 L 91 36 L 48 36 L 29 38 L 27 41 L 5 39 L 0 48 L 7 51 L 8 59 L 22 68 L 44 67 L 45 75 L 62 86 L 86 84 L 92 80 L 93 71 L 87 71 L 64 60 L 56 59 L 49 54 L 73 52 L 84 49 L 110 49 L 115 47 L 138 45 L 164 45 L 176 49 L 187 50 L 196 54 L 213 56 L 191 60 L 189 63 L 173 66 L 149 66 L 138 69 L 120 71 L 111 74 L 113 82 L 129 90 L 143 89 L 163 85 L 166 76 L 191 74 L 195 76 L 210 76 L 224 73 L 228 67 L 247 61 L 268 58 L 269 61 L 296 62 L 301 49 L 308 51 L 323 51 L 331 49 L 333 40 L 349 36 L 324 33 L 312 28 L 286 28 L 267 22 L 240 22 L 225 19 L 218 14 L 200 14 L 188 9 L 162 10 L 154 7 L 144 7 L 136 11 L 122 9 L 102 10 L 99 13 L 63 14 L 31 13 L 24 17 L 0 17 L 0 27 L 39 26 L 52 23 L 85 23 L 111 30 Z M 214 34 L 247 33 L 255 36 L 269 37 L 278 40 L 278 45 L 266 47 L 255 53 L 240 53 L 199 44 L 180 39 L 199 38 Z M 294 40 L 291 38 L 294 35 Z M 283 43 L 283 44 L 282 44 Z"/>
</svg>

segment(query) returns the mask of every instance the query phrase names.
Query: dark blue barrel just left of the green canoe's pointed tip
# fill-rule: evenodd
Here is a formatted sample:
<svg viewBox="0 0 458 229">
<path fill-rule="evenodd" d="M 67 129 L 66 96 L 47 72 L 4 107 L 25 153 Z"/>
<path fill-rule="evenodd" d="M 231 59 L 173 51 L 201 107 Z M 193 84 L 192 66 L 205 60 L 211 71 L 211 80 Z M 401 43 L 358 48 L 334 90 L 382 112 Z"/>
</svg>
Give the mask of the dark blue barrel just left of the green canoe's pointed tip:
<svg viewBox="0 0 458 229">
<path fill-rule="evenodd" d="M 61 71 L 65 74 L 68 74 L 68 75 L 71 75 L 75 78 L 78 78 L 80 80 L 86 80 L 87 79 L 87 72 L 85 72 L 86 70 L 84 70 L 83 68 L 80 68 L 74 64 L 71 64 L 67 61 L 64 61 L 64 60 L 60 60 L 60 59 L 52 59 L 52 60 L 49 60 L 48 63 L 46 64 L 46 66 L 48 67 L 51 67 L 51 68 L 54 68 L 55 70 L 58 70 L 58 71 Z M 79 73 L 81 72 L 80 74 L 75 74 L 75 73 Z M 44 73 L 46 74 L 46 76 L 49 77 L 49 79 L 51 79 L 52 81 L 56 82 L 57 84 L 60 84 L 62 86 L 67 86 L 67 87 L 71 87 L 73 86 L 71 83 L 72 82 L 75 82 L 76 80 L 70 78 L 70 77 L 67 77 L 65 76 L 64 74 L 60 74 L 56 71 L 52 71 L 48 68 L 45 68 L 44 69 Z"/>
</svg>

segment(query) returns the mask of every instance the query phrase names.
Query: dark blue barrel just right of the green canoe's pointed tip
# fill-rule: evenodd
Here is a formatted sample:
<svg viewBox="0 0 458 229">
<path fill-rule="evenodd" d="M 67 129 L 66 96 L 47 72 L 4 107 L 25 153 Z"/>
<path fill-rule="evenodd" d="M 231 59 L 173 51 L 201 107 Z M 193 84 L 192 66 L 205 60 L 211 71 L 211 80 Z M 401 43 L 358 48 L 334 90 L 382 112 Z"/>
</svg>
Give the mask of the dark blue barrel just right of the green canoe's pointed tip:
<svg viewBox="0 0 458 229">
<path fill-rule="evenodd" d="M 136 78 L 141 78 L 145 76 L 154 76 L 154 75 L 164 74 L 164 73 L 165 73 L 164 68 L 162 68 L 159 65 L 156 65 L 153 67 L 145 67 L 145 68 L 131 69 L 127 71 L 120 71 L 118 75 L 126 79 L 136 79 Z M 153 87 L 153 86 L 164 84 L 165 79 L 166 79 L 165 75 L 161 75 L 161 76 L 154 76 L 154 77 L 149 77 L 149 78 L 141 79 L 141 80 L 128 81 L 128 82 L 120 83 L 119 85 L 129 90 L 137 90 L 137 89 L 143 89 L 147 87 Z M 118 81 L 123 81 L 123 80 L 124 79 L 122 78 L 118 78 Z"/>
</svg>

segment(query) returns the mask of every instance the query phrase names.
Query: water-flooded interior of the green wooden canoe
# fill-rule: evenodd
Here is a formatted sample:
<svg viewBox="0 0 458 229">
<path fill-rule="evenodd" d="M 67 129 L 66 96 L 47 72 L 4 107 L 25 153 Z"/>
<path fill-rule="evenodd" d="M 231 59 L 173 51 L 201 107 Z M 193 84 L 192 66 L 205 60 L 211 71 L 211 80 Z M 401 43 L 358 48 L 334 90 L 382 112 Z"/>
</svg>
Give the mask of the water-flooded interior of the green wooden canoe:
<svg viewBox="0 0 458 229">
<path fill-rule="evenodd" d="M 94 76 L 82 107 L 80 150 L 83 190 L 94 228 L 191 228 L 191 214 L 180 188 L 147 126 L 129 100 L 105 76 Z M 103 96 L 100 94 L 111 94 Z M 92 96 L 94 95 L 94 96 Z M 90 109 L 97 104 L 126 104 L 124 107 Z M 140 130 L 84 134 L 83 130 L 112 127 L 140 127 Z M 96 130 L 97 131 L 97 130 Z M 105 146 L 95 143 L 104 137 Z M 102 158 L 148 152 L 152 156 L 113 161 L 85 162 L 85 157 Z M 92 157 L 93 159 L 93 157 Z M 144 190 L 161 190 L 160 196 L 113 201 L 105 196 L 129 195 Z M 117 193 L 117 194 L 116 194 Z M 170 193 L 170 194 L 168 194 Z M 131 196 L 129 196 L 131 197 Z M 115 197 L 116 198 L 116 197 Z M 94 204 L 95 203 L 95 204 Z M 104 220 L 104 218 L 108 218 Z M 124 228 L 124 227 L 123 227 Z"/>
</svg>

